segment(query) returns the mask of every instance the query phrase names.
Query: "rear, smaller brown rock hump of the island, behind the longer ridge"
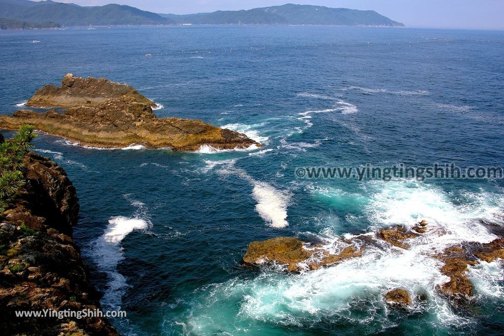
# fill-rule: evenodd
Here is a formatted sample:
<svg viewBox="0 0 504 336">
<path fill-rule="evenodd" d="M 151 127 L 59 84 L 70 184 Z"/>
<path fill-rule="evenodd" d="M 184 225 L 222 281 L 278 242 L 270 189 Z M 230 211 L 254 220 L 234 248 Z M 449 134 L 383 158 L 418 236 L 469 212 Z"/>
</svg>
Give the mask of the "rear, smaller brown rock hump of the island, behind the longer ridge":
<svg viewBox="0 0 504 336">
<path fill-rule="evenodd" d="M 119 84 L 105 78 L 80 78 L 67 74 L 61 81 L 61 86 L 46 85 L 35 92 L 26 106 L 33 107 L 78 107 L 101 104 L 109 99 L 131 97 L 138 103 L 151 107 L 156 104 L 138 93 L 127 84 Z"/>
</svg>

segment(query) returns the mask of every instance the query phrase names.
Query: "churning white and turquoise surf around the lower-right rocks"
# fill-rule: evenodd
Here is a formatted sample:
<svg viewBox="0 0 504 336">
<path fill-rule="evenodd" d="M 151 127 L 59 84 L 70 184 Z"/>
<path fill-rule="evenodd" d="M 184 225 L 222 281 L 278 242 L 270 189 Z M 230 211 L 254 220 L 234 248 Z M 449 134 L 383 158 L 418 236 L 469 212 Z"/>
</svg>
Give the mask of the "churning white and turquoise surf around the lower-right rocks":
<svg viewBox="0 0 504 336">
<path fill-rule="evenodd" d="M 220 305 L 228 307 L 232 303 L 238 306 L 237 315 L 253 321 L 295 327 L 300 323 L 306 325 L 328 319 L 350 319 L 355 323 L 374 320 L 380 322 L 380 326 L 371 332 L 383 332 L 394 326 L 387 318 L 390 307 L 384 295 L 396 288 L 405 289 L 411 295 L 413 305 L 407 309 L 412 313 L 432 314 L 430 323 L 434 328 L 472 323 L 467 314 L 459 315 L 451 300 L 436 289 L 449 278 L 440 272 L 442 261 L 432 255 L 464 241 L 489 242 L 496 238 L 479 220 L 495 222 L 500 218 L 502 195 L 482 190 L 478 194 L 467 192 L 452 201 L 453 195 L 443 189 L 408 180 L 369 182 L 360 193 L 351 195 L 330 188 L 322 193 L 317 192 L 317 188 L 312 190 L 316 197 L 341 198 L 344 194 L 362 198 L 359 203 L 362 202 L 364 215 L 372 223 L 365 234 L 366 240 L 371 239 L 375 244 L 366 244 L 361 257 L 332 267 L 289 276 L 265 270 L 254 279 L 234 278 L 211 286 L 203 292 L 203 301 L 192 312 L 188 325 L 200 332 L 207 330 L 206 325 L 214 325 L 222 332 L 233 333 L 237 326 L 226 323 L 219 315 L 223 308 Z M 411 227 L 422 219 L 428 222 L 427 231 L 407 240 L 411 245 L 409 249 L 391 246 L 375 235 L 375 230 L 383 227 L 398 224 Z M 340 226 L 314 235 L 317 241 L 322 241 L 320 248 L 340 251 L 348 246 L 341 242 L 341 237 L 356 237 L 338 235 L 335 230 L 340 230 Z M 491 298 L 504 295 L 504 271 L 499 263 L 501 261 L 483 261 L 469 267 L 469 278 L 477 295 Z M 422 301 L 417 295 L 425 295 L 428 299 Z M 365 317 L 352 314 L 355 306 L 363 310 L 359 315 L 365 314 Z M 369 327 L 373 325 L 376 324 L 369 324 Z"/>
</svg>

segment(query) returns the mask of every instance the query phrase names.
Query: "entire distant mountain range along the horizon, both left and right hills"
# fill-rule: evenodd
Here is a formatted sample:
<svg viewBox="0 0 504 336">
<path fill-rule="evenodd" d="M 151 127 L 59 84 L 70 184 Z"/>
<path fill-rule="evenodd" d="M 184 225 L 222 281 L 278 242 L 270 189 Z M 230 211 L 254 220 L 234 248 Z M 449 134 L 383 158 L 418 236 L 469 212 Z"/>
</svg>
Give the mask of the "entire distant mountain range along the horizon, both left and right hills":
<svg viewBox="0 0 504 336">
<path fill-rule="evenodd" d="M 155 14 L 123 5 L 81 7 L 75 4 L 29 0 L 0 0 L 3 29 L 10 27 L 112 26 L 112 25 L 337 25 L 403 27 L 374 11 L 292 5 L 243 11 L 217 11 L 189 15 Z"/>
</svg>

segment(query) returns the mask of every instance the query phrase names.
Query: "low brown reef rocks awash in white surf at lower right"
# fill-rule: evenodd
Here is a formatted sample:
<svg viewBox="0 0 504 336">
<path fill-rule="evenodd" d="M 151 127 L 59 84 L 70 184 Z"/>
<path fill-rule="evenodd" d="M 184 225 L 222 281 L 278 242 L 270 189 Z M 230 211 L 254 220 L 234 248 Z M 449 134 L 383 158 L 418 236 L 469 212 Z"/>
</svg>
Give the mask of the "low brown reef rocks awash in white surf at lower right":
<svg viewBox="0 0 504 336">
<path fill-rule="evenodd" d="M 348 246 L 340 248 L 339 252 L 335 254 L 320 248 L 320 244 L 314 248 L 309 248 L 311 246 L 308 245 L 306 248 L 303 242 L 295 237 L 276 237 L 264 241 L 254 241 L 248 245 L 243 256 L 243 263 L 260 265 L 276 261 L 285 264 L 288 272 L 315 271 L 323 266 L 331 266 L 349 258 L 360 257 L 362 251 L 369 246 L 384 249 L 380 244 L 376 244 L 380 240 L 408 249 L 409 244 L 404 243 L 403 240 L 421 236 L 426 227 L 427 222 L 421 221 L 412 228 L 413 231 L 423 231 L 419 233 L 395 227 L 383 229 L 373 236 L 355 236 L 350 240 L 342 240 Z M 437 285 L 437 290 L 455 299 L 467 299 L 472 296 L 473 290 L 468 278 L 469 266 L 477 265 L 481 261 L 492 262 L 499 258 L 504 259 L 504 238 L 497 238 L 486 244 L 467 242 L 463 246 L 450 246 L 442 253 L 432 254 L 429 257 L 442 261 L 443 265 L 440 267 L 440 271 L 450 278 L 450 281 L 445 284 Z M 387 300 L 392 302 L 395 301 L 395 297 L 398 297 L 399 299 L 403 298 L 399 303 L 406 303 L 406 295 L 402 291 L 392 291 Z M 409 297 L 407 292 L 406 294 Z M 410 297 L 408 302 L 410 305 Z"/>
</svg>

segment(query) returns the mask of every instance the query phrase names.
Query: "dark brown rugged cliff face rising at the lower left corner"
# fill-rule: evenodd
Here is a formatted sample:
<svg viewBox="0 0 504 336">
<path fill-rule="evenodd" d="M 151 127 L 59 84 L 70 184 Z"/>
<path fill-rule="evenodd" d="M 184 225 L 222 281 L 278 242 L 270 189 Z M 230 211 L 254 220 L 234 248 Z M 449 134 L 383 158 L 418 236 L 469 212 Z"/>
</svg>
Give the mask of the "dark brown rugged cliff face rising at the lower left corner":
<svg viewBox="0 0 504 336">
<path fill-rule="evenodd" d="M 25 184 L 0 216 L 2 334 L 116 335 L 103 317 L 16 317 L 16 311 L 95 310 L 100 299 L 72 239 L 79 213 L 72 182 L 35 153 L 24 166 Z"/>
</svg>

